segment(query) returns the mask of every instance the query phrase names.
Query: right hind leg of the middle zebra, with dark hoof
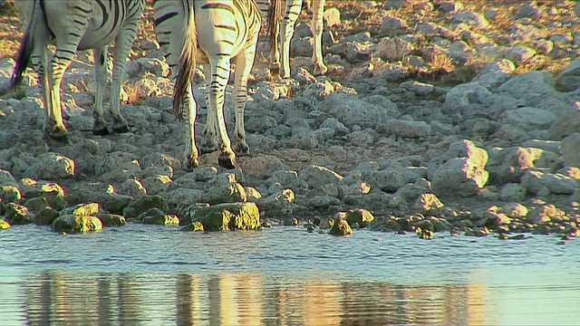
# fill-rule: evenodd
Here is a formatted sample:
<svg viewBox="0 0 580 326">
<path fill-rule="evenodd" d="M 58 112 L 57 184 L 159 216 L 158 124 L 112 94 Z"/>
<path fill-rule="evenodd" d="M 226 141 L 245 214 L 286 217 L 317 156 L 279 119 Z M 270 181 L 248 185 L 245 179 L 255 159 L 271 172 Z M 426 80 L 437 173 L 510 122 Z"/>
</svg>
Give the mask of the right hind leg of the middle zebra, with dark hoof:
<svg viewBox="0 0 580 326">
<path fill-rule="evenodd" d="M 215 142 L 216 136 L 219 136 L 219 157 L 218 164 L 224 168 L 236 167 L 236 154 L 231 147 L 231 141 L 227 136 L 226 120 L 224 117 L 224 101 L 226 98 L 226 86 L 230 72 L 230 56 L 226 53 L 216 54 L 215 57 L 209 57 L 211 65 L 211 82 L 208 88 L 208 120 L 209 115 L 213 115 L 218 135 L 212 134 L 212 128 L 208 121 L 206 130 L 206 140 L 209 144 Z"/>
</svg>

